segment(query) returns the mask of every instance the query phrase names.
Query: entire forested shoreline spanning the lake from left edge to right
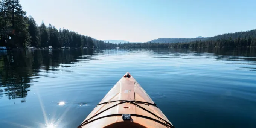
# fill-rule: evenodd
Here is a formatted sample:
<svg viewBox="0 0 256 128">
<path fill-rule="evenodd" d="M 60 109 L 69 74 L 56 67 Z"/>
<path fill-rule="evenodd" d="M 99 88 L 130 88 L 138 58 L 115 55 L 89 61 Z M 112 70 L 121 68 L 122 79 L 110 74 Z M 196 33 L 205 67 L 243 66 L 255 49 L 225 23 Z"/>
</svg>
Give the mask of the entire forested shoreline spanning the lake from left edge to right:
<svg viewBox="0 0 256 128">
<path fill-rule="evenodd" d="M 0 0 L 0 46 L 8 48 L 198 48 L 198 47 L 256 47 L 256 29 L 203 38 L 188 43 L 105 43 L 69 29 L 56 29 L 42 21 L 27 17 L 19 0 Z"/>
</svg>

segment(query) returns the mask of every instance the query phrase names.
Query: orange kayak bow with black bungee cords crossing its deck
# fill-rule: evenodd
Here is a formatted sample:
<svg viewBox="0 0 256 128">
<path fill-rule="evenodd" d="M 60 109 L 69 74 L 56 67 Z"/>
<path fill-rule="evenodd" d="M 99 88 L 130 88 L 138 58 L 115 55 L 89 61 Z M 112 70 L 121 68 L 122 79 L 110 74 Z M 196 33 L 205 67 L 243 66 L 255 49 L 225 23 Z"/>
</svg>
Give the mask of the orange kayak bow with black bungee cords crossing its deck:
<svg viewBox="0 0 256 128">
<path fill-rule="evenodd" d="M 126 73 L 78 128 L 174 128 L 145 90 Z"/>
</svg>

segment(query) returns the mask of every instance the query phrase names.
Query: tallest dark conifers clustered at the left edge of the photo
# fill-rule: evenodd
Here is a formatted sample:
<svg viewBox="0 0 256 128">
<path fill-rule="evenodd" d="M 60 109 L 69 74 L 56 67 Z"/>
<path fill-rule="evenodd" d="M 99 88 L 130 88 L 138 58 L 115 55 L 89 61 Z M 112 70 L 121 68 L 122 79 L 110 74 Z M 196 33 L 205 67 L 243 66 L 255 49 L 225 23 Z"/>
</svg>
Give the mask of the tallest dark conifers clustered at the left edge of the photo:
<svg viewBox="0 0 256 128">
<path fill-rule="evenodd" d="M 31 38 L 19 0 L 0 0 L 0 45 L 26 47 Z"/>
</svg>

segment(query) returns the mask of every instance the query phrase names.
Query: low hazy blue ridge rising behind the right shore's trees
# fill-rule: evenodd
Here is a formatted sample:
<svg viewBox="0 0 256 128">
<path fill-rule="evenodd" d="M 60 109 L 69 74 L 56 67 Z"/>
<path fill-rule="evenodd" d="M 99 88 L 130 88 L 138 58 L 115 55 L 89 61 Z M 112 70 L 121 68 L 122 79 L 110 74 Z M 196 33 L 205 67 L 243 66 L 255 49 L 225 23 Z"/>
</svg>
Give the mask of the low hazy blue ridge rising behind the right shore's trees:
<svg viewBox="0 0 256 128">
<path fill-rule="evenodd" d="M 155 40 L 151 40 L 148 42 L 155 42 L 155 43 L 185 43 L 185 42 L 191 42 L 196 40 L 206 40 L 209 37 L 197 37 L 197 38 L 158 38 Z"/>
</svg>

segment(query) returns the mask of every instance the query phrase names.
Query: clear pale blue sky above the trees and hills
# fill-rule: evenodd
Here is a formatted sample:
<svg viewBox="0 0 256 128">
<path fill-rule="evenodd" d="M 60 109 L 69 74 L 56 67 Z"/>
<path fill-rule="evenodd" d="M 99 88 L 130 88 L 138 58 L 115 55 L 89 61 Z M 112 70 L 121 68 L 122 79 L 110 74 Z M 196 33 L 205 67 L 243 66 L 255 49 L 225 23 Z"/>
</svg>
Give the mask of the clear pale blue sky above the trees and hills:
<svg viewBox="0 0 256 128">
<path fill-rule="evenodd" d="M 256 0 L 20 0 L 38 24 L 99 40 L 211 37 L 256 28 Z"/>
</svg>

